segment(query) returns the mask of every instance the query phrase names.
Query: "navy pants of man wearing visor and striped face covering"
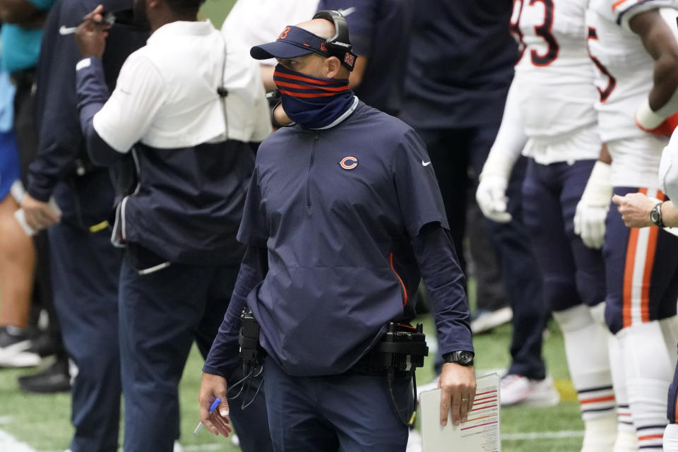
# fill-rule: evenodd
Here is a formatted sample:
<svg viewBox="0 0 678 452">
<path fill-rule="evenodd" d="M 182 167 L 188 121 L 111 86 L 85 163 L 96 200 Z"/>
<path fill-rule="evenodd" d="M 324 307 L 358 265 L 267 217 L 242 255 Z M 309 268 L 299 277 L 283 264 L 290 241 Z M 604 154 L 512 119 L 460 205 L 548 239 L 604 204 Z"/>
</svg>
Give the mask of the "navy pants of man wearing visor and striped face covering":
<svg viewBox="0 0 678 452">
<path fill-rule="evenodd" d="M 290 376 L 270 357 L 263 375 L 275 452 L 405 451 L 409 431 L 392 408 L 386 375 Z M 411 378 L 396 377 L 393 386 L 407 419 Z"/>
</svg>

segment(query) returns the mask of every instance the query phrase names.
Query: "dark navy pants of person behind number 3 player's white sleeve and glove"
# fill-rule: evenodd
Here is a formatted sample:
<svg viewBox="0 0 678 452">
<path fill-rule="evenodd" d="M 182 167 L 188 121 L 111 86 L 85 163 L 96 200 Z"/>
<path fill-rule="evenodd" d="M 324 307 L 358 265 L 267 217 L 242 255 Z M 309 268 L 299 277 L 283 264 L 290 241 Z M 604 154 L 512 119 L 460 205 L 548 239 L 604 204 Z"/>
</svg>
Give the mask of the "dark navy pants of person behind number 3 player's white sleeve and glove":
<svg viewBox="0 0 678 452">
<path fill-rule="evenodd" d="M 494 123 L 466 129 L 417 130 L 433 162 L 457 250 L 462 249 L 465 233 L 468 184 L 477 184 L 498 130 L 499 124 Z M 513 309 L 513 362 L 509 373 L 543 379 L 546 366 L 542 359 L 542 333 L 548 309 L 542 297 L 542 275 L 530 246 L 528 230 L 522 221 L 522 185 L 526 166 L 524 157 L 518 160 L 506 189 L 508 210 L 513 221 L 485 222 L 499 257 L 501 279 Z M 458 251 L 457 256 L 463 265 L 463 253 Z"/>
</svg>

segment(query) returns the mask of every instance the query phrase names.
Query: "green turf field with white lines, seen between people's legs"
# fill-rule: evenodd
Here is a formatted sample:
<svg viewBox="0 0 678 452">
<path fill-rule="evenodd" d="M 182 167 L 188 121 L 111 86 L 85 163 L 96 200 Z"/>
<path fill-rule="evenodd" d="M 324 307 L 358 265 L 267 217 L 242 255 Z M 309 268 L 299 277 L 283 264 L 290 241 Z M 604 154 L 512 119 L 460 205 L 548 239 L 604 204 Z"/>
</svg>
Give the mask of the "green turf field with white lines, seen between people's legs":
<svg viewBox="0 0 678 452">
<path fill-rule="evenodd" d="M 427 331 L 431 323 L 423 319 Z M 510 328 L 497 328 L 490 335 L 474 339 L 478 373 L 482 369 L 499 369 L 509 363 L 508 345 Z M 550 326 L 545 341 L 545 358 L 557 381 L 563 401 L 553 408 L 504 408 L 501 410 L 501 432 L 505 452 L 575 452 L 581 444 L 583 424 L 578 416 L 578 403 L 567 373 L 562 335 L 557 327 Z M 202 359 L 196 349 L 191 352 L 184 371 L 180 395 L 182 401 L 182 444 L 190 451 L 238 451 L 221 436 L 216 438 L 206 429 L 193 436 L 198 422 L 198 386 Z M 69 417 L 69 396 L 28 395 L 18 390 L 16 377 L 27 370 L 0 370 L 0 430 L 28 444 L 35 451 L 64 451 L 73 433 Z M 425 383 L 432 378 L 430 362 L 417 372 L 417 381 Z M 0 451 L 23 452 L 16 448 Z"/>
</svg>

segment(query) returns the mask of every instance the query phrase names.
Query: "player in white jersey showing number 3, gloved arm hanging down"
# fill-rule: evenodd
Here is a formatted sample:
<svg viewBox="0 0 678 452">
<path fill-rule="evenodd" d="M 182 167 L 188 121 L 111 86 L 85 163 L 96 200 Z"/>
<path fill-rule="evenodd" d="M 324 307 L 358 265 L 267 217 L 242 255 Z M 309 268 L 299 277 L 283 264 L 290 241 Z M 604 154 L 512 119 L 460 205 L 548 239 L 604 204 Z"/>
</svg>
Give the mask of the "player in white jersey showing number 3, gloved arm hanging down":
<svg viewBox="0 0 678 452">
<path fill-rule="evenodd" d="M 563 331 L 585 424 L 581 450 L 609 452 L 617 415 L 603 318 L 602 240 L 583 241 L 573 225 L 602 147 L 595 74 L 586 49 L 587 7 L 588 0 L 514 1 L 512 28 L 521 58 L 476 198 L 491 220 L 511 220 L 506 184 L 521 151 L 529 157 L 524 222 L 542 268 L 545 302 Z"/>
</svg>

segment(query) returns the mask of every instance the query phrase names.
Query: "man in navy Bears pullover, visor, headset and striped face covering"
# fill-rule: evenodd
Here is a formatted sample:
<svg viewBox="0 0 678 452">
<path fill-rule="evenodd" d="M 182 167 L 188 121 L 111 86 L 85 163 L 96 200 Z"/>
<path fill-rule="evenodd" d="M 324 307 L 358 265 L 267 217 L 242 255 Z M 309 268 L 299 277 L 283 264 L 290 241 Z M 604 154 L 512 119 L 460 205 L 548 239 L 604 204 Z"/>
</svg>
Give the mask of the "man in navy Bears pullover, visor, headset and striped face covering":
<svg viewBox="0 0 678 452">
<path fill-rule="evenodd" d="M 319 13 L 321 14 L 321 13 Z M 297 125 L 261 144 L 238 239 L 248 244 L 232 303 L 203 368 L 201 420 L 227 435 L 228 405 L 208 415 L 238 365 L 247 304 L 268 352 L 264 388 L 276 451 L 404 451 L 408 428 L 383 374 L 364 358 L 389 321 L 415 316 L 420 280 L 432 293 L 447 363 L 441 423 L 465 421 L 475 394 L 468 302 L 435 174 L 422 141 L 402 121 L 348 89 L 354 63 L 340 29 L 316 18 L 253 47 L 276 57 L 275 83 Z M 342 45 L 343 44 L 343 45 Z M 467 366 L 458 364 L 463 357 Z M 410 375 L 396 381 L 410 406 Z M 233 404 L 231 404 L 233 405 Z M 409 413 L 408 413 L 409 414 Z"/>
</svg>

